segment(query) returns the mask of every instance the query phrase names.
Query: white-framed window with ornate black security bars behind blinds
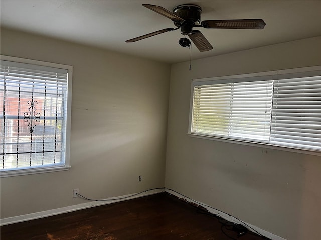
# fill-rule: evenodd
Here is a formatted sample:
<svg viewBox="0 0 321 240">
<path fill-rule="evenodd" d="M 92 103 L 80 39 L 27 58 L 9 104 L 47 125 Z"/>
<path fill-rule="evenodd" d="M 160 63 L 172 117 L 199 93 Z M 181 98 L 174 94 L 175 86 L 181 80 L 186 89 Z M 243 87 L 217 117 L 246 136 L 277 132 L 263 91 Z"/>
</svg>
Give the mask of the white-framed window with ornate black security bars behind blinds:
<svg viewBox="0 0 321 240">
<path fill-rule="evenodd" d="M 72 67 L 1 56 L 2 176 L 69 168 Z"/>
</svg>

